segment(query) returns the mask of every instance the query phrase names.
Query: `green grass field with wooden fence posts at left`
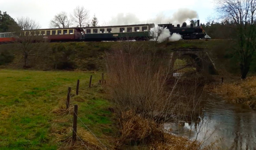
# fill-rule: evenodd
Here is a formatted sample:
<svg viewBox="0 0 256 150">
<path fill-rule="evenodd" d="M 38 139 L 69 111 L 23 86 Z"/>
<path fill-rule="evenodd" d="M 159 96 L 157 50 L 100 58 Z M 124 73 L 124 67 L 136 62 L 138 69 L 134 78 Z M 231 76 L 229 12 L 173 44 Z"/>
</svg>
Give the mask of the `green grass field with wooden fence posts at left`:
<svg viewBox="0 0 256 150">
<path fill-rule="evenodd" d="M 90 75 L 93 85 L 88 88 Z M 78 104 L 78 126 L 88 126 L 97 138 L 112 134 L 110 104 L 104 100 L 100 78 L 99 72 L 0 70 L 0 149 L 59 148 L 62 143 L 56 143 L 52 133 L 72 126 L 73 115 L 63 111 L 68 87 L 70 105 Z M 80 93 L 73 95 L 77 79 Z"/>
</svg>

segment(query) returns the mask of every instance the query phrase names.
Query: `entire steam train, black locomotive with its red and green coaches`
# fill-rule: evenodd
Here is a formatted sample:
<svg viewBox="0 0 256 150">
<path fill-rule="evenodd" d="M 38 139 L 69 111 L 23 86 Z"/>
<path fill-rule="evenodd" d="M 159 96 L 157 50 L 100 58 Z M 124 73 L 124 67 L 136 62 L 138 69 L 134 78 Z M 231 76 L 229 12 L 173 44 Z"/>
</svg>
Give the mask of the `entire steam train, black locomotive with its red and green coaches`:
<svg viewBox="0 0 256 150">
<path fill-rule="evenodd" d="M 182 27 L 172 24 L 158 24 L 160 27 L 168 28 L 171 33 L 179 33 L 182 39 L 201 39 L 206 33 L 199 26 L 197 20 L 196 27 L 187 27 L 186 22 Z M 49 42 L 66 42 L 66 41 L 148 41 L 154 39 L 154 33 L 151 29 L 155 28 L 155 24 L 132 24 L 121 26 L 97 26 L 97 27 L 69 27 L 69 28 L 55 28 L 55 29 L 35 29 L 19 32 L 21 35 L 33 35 L 42 37 Z M 14 43 L 20 37 L 16 32 L 0 33 L 0 44 Z M 15 36 L 16 35 L 16 36 Z"/>
</svg>

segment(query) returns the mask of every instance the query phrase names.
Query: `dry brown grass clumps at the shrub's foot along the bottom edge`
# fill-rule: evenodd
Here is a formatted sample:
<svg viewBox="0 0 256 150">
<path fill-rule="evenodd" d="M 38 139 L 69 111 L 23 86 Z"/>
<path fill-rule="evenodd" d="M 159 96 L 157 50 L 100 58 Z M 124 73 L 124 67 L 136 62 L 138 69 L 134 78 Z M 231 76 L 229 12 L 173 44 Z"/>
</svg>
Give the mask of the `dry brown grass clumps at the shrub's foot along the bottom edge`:
<svg viewBox="0 0 256 150">
<path fill-rule="evenodd" d="M 125 116 L 121 122 L 121 142 L 120 143 L 136 143 L 147 145 L 150 150 L 219 150 L 216 144 L 218 141 L 208 146 L 203 146 L 203 142 L 197 140 L 189 140 L 187 137 L 171 135 L 163 130 L 161 124 L 157 124 L 149 119 L 140 116 Z M 123 145 L 119 145 L 122 147 Z M 140 149 L 140 148 L 138 148 Z"/>
</svg>

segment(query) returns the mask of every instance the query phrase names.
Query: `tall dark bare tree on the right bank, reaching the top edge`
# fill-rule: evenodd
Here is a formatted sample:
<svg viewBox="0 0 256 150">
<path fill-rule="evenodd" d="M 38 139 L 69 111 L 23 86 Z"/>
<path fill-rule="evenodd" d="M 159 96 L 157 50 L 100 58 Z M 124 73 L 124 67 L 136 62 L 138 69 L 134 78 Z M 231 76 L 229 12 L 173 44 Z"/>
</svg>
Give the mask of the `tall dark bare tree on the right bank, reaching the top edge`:
<svg viewBox="0 0 256 150">
<path fill-rule="evenodd" d="M 241 78 L 249 72 L 256 49 L 256 0 L 216 0 L 216 12 L 221 21 L 235 22 L 236 50 L 239 54 Z"/>
</svg>

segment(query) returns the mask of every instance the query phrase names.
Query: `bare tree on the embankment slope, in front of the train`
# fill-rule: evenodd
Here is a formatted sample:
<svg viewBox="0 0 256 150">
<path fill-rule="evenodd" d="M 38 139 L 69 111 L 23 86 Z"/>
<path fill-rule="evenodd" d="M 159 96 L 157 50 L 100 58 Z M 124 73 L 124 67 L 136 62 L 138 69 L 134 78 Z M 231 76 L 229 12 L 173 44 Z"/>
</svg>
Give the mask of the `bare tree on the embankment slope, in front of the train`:
<svg viewBox="0 0 256 150">
<path fill-rule="evenodd" d="M 36 31 L 41 26 L 35 20 L 29 17 L 18 17 L 17 24 L 22 29 L 14 32 L 17 51 L 24 58 L 24 68 L 27 68 L 28 57 L 37 55 L 40 49 L 47 46 L 47 43 L 42 36 L 39 36 L 39 31 Z"/>
</svg>

